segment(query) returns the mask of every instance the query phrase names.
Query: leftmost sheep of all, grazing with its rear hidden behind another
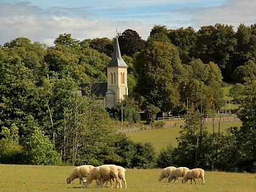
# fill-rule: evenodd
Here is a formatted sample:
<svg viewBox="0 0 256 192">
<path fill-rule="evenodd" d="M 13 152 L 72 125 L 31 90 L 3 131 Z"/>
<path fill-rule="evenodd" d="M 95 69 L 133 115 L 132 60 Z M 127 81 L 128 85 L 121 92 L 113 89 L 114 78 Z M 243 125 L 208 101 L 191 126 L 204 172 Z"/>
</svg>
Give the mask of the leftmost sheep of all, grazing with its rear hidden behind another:
<svg viewBox="0 0 256 192">
<path fill-rule="evenodd" d="M 74 168 L 74 170 L 71 172 L 69 177 L 66 179 L 66 183 L 70 184 L 74 179 L 79 178 L 80 184 L 82 183 L 83 177 L 87 177 L 88 174 L 91 172 L 91 169 L 93 169 L 94 166 L 92 165 L 82 165 L 77 166 Z"/>
</svg>

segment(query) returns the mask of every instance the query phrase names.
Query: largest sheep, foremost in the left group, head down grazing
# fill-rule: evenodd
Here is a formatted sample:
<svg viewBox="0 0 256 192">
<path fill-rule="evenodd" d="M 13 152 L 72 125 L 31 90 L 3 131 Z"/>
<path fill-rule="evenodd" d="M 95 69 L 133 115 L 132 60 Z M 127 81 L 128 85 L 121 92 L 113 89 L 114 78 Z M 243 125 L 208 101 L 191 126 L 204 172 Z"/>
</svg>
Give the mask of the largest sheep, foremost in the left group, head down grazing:
<svg viewBox="0 0 256 192">
<path fill-rule="evenodd" d="M 122 188 L 121 180 L 118 177 L 118 168 L 116 165 L 101 165 L 93 168 L 88 174 L 87 178 L 84 180 L 84 188 L 88 188 L 93 180 L 96 180 L 95 188 L 102 187 L 101 178 L 108 180 L 112 179 L 112 177 L 116 180 L 116 188 Z"/>
</svg>

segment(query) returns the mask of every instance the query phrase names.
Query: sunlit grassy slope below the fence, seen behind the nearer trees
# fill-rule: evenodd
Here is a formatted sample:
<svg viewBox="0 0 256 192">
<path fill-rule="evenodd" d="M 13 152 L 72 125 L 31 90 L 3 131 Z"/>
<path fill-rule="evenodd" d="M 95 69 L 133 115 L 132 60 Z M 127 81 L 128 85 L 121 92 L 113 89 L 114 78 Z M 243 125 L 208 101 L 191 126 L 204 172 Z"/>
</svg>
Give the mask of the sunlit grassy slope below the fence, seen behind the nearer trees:
<svg viewBox="0 0 256 192">
<path fill-rule="evenodd" d="M 228 121 L 221 123 L 221 132 L 227 127 L 241 126 L 241 121 Z M 212 124 L 207 124 L 208 131 L 212 133 Z M 217 127 L 215 128 L 217 129 Z M 165 127 L 162 129 L 147 129 L 138 130 L 135 132 L 125 133 L 127 137 L 131 140 L 141 143 L 150 142 L 154 146 L 156 152 L 158 153 L 161 148 L 172 144 L 172 146 L 177 146 L 176 137 L 179 137 L 180 127 Z M 217 130 L 215 130 L 216 132 Z"/>
</svg>

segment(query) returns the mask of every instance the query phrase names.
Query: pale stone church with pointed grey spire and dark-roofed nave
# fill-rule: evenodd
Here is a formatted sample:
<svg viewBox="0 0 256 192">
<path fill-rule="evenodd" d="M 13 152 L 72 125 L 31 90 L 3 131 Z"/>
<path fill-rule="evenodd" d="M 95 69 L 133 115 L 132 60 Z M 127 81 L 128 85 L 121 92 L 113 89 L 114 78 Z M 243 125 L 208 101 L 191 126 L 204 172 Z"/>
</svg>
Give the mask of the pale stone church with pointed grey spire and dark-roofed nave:
<svg viewBox="0 0 256 192">
<path fill-rule="evenodd" d="M 107 65 L 107 82 L 99 82 L 91 85 L 91 93 L 102 96 L 102 104 L 106 108 L 116 107 L 116 104 L 128 95 L 127 87 L 128 65 L 121 57 L 118 38 L 115 41 L 115 48 L 112 60 Z M 89 84 L 80 84 L 80 87 L 88 87 Z M 82 94 L 84 94 L 82 92 Z"/>
</svg>

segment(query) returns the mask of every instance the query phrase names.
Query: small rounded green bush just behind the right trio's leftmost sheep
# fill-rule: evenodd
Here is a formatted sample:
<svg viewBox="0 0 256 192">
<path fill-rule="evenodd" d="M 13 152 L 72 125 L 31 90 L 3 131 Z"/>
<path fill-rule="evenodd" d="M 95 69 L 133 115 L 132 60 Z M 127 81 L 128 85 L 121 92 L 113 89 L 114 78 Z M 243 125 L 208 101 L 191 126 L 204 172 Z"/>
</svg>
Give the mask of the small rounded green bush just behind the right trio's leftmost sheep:
<svg viewBox="0 0 256 192">
<path fill-rule="evenodd" d="M 173 147 L 171 144 L 162 148 L 157 156 L 157 167 L 166 168 L 168 166 L 174 166 L 173 164 Z"/>
</svg>

